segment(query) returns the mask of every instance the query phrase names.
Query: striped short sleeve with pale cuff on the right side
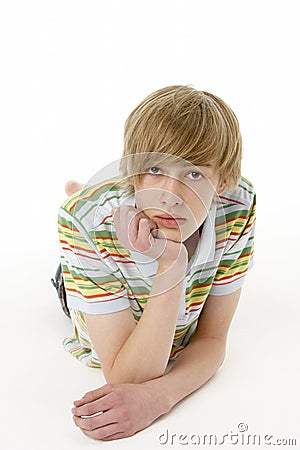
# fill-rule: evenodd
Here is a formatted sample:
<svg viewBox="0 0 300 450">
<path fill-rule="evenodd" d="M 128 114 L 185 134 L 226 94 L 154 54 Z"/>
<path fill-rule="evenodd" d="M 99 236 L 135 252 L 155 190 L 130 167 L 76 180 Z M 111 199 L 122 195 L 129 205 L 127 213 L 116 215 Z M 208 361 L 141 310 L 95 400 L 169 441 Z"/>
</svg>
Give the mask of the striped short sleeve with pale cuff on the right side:
<svg viewBox="0 0 300 450">
<path fill-rule="evenodd" d="M 244 214 L 244 211 L 243 211 Z M 239 216 L 231 228 L 227 246 L 218 266 L 210 294 L 226 295 L 244 284 L 248 270 L 254 265 L 254 231 L 256 196 L 246 216 Z"/>
</svg>

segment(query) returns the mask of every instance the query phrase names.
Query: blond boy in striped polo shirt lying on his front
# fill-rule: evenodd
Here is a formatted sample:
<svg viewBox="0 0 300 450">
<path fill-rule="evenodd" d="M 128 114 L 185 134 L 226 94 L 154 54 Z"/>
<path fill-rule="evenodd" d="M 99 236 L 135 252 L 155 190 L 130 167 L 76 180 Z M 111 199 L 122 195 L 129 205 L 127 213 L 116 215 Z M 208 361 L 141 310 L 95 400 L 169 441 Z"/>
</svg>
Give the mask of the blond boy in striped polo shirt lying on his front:
<svg viewBox="0 0 300 450">
<path fill-rule="evenodd" d="M 133 435 L 222 365 L 253 264 L 255 193 L 241 152 L 220 98 L 169 86 L 128 117 L 118 176 L 67 183 L 55 284 L 74 328 L 64 345 L 108 383 L 74 402 L 87 436 Z"/>
</svg>

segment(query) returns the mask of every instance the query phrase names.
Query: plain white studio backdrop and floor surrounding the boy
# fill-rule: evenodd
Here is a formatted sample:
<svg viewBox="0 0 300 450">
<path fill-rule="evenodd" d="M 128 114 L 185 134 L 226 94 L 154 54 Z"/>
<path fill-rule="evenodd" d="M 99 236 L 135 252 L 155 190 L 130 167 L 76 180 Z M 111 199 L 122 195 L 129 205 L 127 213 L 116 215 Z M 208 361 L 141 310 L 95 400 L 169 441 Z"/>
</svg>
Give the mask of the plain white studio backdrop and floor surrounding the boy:
<svg viewBox="0 0 300 450">
<path fill-rule="evenodd" d="M 158 436 L 166 429 L 221 436 L 238 433 L 239 423 L 299 445 L 297 7 L 1 2 L 1 450 L 181 448 Z M 86 182 L 118 159 L 128 114 L 171 84 L 210 91 L 239 118 L 243 174 L 258 196 L 256 265 L 216 377 L 147 430 L 102 443 L 71 420 L 72 401 L 103 378 L 61 347 L 71 326 L 50 284 L 57 210 L 65 182 Z"/>
</svg>

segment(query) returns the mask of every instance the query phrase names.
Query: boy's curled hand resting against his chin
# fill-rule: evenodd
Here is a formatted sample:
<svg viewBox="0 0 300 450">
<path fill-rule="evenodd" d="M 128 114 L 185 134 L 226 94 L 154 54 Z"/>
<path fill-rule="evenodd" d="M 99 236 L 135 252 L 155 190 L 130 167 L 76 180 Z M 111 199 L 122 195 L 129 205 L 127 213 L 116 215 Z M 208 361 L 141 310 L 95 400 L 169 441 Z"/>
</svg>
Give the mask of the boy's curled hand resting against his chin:
<svg viewBox="0 0 300 450">
<path fill-rule="evenodd" d="M 184 244 L 166 239 L 156 223 L 143 211 L 122 205 L 113 208 L 112 214 L 117 237 L 123 247 L 150 256 L 161 266 L 171 265 L 177 260 L 187 261 Z"/>
</svg>

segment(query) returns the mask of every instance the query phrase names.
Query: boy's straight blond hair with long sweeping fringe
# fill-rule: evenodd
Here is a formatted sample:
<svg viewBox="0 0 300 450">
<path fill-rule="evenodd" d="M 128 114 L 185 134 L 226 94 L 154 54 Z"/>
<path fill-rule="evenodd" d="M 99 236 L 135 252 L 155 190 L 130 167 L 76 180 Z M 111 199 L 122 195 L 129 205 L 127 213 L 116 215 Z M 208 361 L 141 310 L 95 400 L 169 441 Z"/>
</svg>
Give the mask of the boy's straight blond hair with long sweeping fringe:
<svg viewBox="0 0 300 450">
<path fill-rule="evenodd" d="M 190 86 L 159 89 L 129 115 L 120 163 L 123 186 L 134 191 L 142 167 L 139 156 L 153 152 L 195 166 L 213 164 L 220 184 L 226 182 L 229 190 L 241 177 L 242 138 L 234 112 L 219 97 Z"/>
</svg>

